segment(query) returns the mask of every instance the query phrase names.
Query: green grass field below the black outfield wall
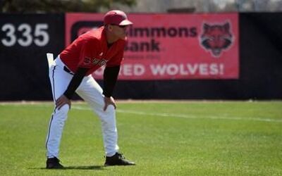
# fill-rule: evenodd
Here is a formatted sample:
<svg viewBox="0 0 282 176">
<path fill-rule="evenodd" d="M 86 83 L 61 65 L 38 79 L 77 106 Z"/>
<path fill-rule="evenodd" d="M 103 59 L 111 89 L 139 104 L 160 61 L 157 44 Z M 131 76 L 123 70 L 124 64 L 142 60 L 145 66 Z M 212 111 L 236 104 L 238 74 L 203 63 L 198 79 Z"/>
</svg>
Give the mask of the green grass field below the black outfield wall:
<svg viewBox="0 0 282 176">
<path fill-rule="evenodd" d="M 52 103 L 0 103 L 0 175 L 282 175 L 282 101 L 118 102 L 119 146 L 104 167 L 100 122 L 73 103 L 60 159 L 46 170 Z"/>
</svg>

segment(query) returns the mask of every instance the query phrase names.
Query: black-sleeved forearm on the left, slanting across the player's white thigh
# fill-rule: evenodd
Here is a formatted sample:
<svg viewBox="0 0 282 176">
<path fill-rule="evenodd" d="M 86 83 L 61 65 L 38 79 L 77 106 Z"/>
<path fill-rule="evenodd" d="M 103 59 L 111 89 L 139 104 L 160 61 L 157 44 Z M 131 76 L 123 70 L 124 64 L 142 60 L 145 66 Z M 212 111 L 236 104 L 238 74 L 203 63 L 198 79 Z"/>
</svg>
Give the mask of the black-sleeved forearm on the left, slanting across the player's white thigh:
<svg viewBox="0 0 282 176">
<path fill-rule="evenodd" d="M 83 77 L 86 75 L 88 68 L 78 68 L 75 75 L 73 75 L 73 79 L 71 79 L 70 84 L 68 84 L 68 88 L 63 93 L 68 99 L 73 97 L 75 90 L 78 89 L 78 86 L 82 82 Z"/>
</svg>

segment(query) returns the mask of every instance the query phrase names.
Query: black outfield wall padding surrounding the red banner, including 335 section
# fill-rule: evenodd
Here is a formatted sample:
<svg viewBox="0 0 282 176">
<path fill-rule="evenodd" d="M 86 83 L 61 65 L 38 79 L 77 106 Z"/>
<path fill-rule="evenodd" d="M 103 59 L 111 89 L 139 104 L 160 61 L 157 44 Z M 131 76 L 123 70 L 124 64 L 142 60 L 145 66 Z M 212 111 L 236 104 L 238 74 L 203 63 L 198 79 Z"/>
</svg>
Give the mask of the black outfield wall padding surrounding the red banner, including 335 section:
<svg viewBox="0 0 282 176">
<path fill-rule="evenodd" d="M 0 101 L 52 99 L 45 54 L 65 47 L 65 15 L 0 14 Z M 239 13 L 238 79 L 120 80 L 114 96 L 282 99 L 281 29 L 282 13 Z M 6 36 L 8 30 L 15 30 L 12 37 Z"/>
</svg>

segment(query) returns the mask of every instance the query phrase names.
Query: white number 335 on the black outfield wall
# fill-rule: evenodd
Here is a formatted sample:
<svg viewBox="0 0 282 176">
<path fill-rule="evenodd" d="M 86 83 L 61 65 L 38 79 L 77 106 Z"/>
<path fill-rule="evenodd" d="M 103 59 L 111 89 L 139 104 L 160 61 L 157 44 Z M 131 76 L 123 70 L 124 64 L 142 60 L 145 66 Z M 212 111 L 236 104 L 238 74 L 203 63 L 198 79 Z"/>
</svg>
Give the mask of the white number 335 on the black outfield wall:
<svg viewBox="0 0 282 176">
<path fill-rule="evenodd" d="M 40 23 L 35 25 L 35 31 L 32 35 L 32 27 L 27 23 L 20 24 L 17 28 L 18 32 L 21 32 L 22 37 L 18 37 L 16 27 L 11 23 L 6 23 L 1 27 L 1 30 L 5 32 L 6 36 L 1 39 L 1 43 L 4 46 L 13 46 L 18 42 L 20 46 L 30 46 L 34 42 L 37 46 L 45 46 L 49 42 L 48 25 Z"/>
</svg>

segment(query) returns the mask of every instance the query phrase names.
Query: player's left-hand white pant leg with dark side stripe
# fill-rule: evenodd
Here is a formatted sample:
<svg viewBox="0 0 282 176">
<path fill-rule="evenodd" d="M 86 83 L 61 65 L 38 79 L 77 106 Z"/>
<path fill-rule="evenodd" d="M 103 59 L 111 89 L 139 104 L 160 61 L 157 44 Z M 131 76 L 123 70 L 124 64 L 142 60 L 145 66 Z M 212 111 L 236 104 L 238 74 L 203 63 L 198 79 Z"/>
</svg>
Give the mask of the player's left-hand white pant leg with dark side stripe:
<svg viewBox="0 0 282 176">
<path fill-rule="evenodd" d="M 52 65 L 49 69 L 49 78 L 51 82 L 52 94 L 54 103 L 63 92 L 66 91 L 69 82 L 73 76 L 66 73 L 61 65 Z M 55 105 L 56 107 L 56 105 Z M 49 121 L 49 128 L 46 137 L 47 158 L 59 158 L 59 146 L 61 142 L 61 135 L 63 126 L 68 116 L 69 106 L 64 105 L 60 110 L 54 108 Z"/>
</svg>

